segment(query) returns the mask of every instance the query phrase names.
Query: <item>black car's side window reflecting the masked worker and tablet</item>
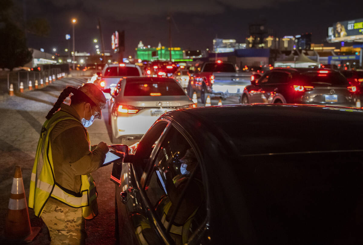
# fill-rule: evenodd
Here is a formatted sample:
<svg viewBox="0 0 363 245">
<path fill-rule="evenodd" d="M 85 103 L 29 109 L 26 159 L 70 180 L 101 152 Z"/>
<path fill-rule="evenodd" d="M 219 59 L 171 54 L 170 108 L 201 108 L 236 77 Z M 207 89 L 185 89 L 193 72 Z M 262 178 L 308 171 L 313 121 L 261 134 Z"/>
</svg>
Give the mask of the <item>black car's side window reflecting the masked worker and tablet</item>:
<svg viewBox="0 0 363 245">
<path fill-rule="evenodd" d="M 175 243 L 184 244 L 204 222 L 207 213 L 195 150 L 171 126 L 152 165 L 146 195 Z"/>
</svg>

